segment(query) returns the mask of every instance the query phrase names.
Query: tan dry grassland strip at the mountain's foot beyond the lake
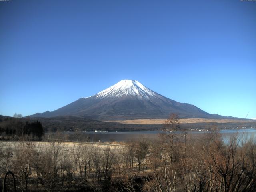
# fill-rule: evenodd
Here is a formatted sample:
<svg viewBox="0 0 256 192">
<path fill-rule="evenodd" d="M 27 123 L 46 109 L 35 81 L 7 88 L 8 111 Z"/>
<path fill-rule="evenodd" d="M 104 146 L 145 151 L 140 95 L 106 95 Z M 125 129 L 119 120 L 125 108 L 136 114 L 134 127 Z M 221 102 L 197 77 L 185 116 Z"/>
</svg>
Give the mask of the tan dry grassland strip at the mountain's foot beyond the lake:
<svg viewBox="0 0 256 192">
<path fill-rule="evenodd" d="M 133 120 L 117 120 L 108 122 L 118 122 L 123 124 L 163 124 L 166 119 L 133 119 Z M 179 123 L 248 123 L 256 122 L 256 120 L 239 120 L 239 119 L 203 119 L 189 118 L 179 119 Z"/>
</svg>

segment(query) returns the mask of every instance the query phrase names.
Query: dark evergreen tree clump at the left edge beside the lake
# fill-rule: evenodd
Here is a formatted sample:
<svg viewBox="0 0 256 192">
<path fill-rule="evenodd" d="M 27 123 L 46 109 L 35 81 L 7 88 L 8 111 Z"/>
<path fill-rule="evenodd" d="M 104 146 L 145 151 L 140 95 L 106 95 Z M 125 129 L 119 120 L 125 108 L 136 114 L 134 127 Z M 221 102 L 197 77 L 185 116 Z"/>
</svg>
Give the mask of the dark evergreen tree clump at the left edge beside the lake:
<svg viewBox="0 0 256 192">
<path fill-rule="evenodd" d="M 21 136 L 41 140 L 44 129 L 39 121 L 30 122 L 22 118 L 4 118 L 0 121 L 1 139 L 18 139 Z"/>
</svg>

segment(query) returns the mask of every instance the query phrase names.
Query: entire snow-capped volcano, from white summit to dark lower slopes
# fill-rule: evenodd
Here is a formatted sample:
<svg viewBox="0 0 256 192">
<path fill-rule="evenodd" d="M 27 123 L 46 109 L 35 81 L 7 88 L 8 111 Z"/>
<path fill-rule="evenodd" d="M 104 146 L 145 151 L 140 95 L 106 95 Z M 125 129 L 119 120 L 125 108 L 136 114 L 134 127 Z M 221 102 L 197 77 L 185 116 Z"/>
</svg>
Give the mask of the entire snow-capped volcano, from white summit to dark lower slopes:
<svg viewBox="0 0 256 192">
<path fill-rule="evenodd" d="M 227 118 L 208 114 L 194 105 L 166 98 L 136 80 L 121 80 L 94 96 L 80 98 L 55 111 L 36 113 L 32 117 L 78 116 L 100 120 L 164 119 L 170 113 L 176 113 L 180 118 Z"/>
</svg>

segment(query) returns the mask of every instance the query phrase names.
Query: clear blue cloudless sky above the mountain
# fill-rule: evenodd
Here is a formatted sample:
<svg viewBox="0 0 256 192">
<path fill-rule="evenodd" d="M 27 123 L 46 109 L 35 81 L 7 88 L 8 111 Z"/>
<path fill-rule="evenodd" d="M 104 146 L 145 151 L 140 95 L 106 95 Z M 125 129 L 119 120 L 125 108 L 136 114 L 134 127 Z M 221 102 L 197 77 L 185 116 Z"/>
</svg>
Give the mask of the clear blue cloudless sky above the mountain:
<svg viewBox="0 0 256 192">
<path fill-rule="evenodd" d="M 122 79 L 256 118 L 256 2 L 0 1 L 0 114 L 56 110 Z"/>
</svg>

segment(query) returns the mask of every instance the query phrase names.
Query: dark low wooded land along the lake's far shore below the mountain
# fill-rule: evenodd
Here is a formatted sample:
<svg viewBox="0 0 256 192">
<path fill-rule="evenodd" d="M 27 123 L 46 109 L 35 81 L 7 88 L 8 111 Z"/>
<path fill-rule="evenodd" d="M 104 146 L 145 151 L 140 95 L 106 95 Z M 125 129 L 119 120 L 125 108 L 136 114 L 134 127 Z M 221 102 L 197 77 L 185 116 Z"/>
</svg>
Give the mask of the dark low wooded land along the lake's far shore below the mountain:
<svg viewBox="0 0 256 192">
<path fill-rule="evenodd" d="M 90 118 L 80 118 L 74 116 L 57 116 L 52 118 L 13 118 L 9 116 L 0 115 L 0 135 L 3 134 L 3 128 L 6 125 L 15 127 L 20 130 L 26 126 L 27 123 L 40 122 L 44 132 L 58 131 L 150 131 L 162 130 L 162 124 L 122 124 L 118 122 L 104 122 L 93 120 Z M 212 126 L 219 128 L 225 127 L 251 127 L 256 126 L 256 122 L 234 122 L 234 123 L 186 123 L 180 124 L 180 129 L 200 128 L 208 129 Z M 29 132 L 29 131 L 28 131 Z"/>
</svg>

